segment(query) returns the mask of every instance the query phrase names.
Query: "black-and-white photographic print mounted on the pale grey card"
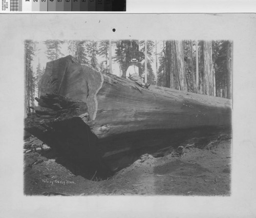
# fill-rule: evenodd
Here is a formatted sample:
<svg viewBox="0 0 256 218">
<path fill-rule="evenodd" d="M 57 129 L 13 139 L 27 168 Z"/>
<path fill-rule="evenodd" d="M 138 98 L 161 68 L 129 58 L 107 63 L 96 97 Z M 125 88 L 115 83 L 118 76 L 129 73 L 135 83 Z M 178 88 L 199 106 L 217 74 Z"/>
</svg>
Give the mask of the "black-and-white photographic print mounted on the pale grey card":
<svg viewBox="0 0 256 218">
<path fill-rule="evenodd" d="M 229 195 L 232 44 L 25 40 L 25 194 Z"/>
</svg>

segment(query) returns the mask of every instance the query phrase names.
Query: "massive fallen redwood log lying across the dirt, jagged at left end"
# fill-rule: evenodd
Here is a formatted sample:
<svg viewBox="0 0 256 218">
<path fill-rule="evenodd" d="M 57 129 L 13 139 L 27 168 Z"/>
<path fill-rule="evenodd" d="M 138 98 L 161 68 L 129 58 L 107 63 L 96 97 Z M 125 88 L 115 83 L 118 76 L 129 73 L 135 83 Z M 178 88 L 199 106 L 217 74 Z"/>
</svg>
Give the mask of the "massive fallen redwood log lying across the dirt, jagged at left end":
<svg viewBox="0 0 256 218">
<path fill-rule="evenodd" d="M 25 130 L 74 162 L 119 170 L 147 153 L 231 134 L 231 101 L 168 88 L 140 88 L 72 56 L 47 63 Z"/>
</svg>

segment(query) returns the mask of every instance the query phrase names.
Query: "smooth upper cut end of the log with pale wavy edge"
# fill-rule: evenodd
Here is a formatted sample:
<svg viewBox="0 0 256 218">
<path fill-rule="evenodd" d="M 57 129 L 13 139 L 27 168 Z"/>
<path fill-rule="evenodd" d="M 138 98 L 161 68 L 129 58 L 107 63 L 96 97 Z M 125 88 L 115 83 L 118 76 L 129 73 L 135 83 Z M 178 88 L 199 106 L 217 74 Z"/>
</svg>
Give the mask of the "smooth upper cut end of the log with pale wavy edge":
<svg viewBox="0 0 256 218">
<path fill-rule="evenodd" d="M 41 95 L 66 96 L 87 103 L 91 120 L 98 108 L 96 95 L 102 87 L 103 76 L 87 64 L 79 64 L 72 56 L 47 63 L 42 76 Z"/>
</svg>

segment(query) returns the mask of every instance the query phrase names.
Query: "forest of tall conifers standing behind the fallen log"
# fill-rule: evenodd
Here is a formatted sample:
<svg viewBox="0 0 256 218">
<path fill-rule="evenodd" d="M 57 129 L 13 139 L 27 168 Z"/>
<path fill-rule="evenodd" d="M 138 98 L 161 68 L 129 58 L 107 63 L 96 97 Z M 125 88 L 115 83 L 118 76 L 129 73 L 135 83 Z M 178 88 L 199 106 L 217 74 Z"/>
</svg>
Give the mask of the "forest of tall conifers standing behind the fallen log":
<svg viewBox="0 0 256 218">
<path fill-rule="evenodd" d="M 102 73 L 112 73 L 116 64 L 118 76 L 124 77 L 131 59 L 136 58 L 139 75 L 148 83 L 232 98 L 232 42 L 228 40 L 46 40 L 44 45 L 48 61 L 72 55 Z M 37 42 L 25 41 L 26 114 L 40 95 L 40 78 L 45 71 L 38 50 Z M 32 62 L 36 62 L 34 69 Z"/>
</svg>

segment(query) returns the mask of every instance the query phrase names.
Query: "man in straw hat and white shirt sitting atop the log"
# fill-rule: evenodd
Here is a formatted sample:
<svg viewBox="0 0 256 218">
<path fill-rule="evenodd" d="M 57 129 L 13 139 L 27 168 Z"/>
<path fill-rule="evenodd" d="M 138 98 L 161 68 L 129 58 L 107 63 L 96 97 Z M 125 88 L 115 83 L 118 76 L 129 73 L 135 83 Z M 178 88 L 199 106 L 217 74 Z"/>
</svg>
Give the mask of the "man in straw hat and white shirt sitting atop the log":
<svg viewBox="0 0 256 218">
<path fill-rule="evenodd" d="M 126 78 L 129 78 L 133 81 L 135 81 L 137 84 L 139 84 L 142 88 L 148 89 L 150 84 L 144 83 L 142 79 L 139 77 L 139 68 L 136 66 L 136 63 L 138 60 L 136 58 L 133 58 L 131 60 L 132 65 L 129 66 L 129 68 L 126 71 Z"/>
</svg>

